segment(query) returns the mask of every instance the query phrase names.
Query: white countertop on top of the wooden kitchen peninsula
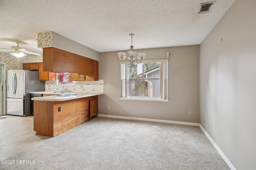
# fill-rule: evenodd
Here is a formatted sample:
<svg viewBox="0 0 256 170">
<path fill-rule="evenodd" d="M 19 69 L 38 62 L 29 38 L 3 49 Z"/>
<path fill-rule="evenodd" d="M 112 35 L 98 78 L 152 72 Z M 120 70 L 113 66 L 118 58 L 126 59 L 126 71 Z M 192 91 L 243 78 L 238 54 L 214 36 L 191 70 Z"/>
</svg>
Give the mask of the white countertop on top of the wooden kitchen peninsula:
<svg viewBox="0 0 256 170">
<path fill-rule="evenodd" d="M 52 96 L 31 98 L 31 100 L 59 102 L 59 101 L 72 100 L 72 99 L 78 99 L 78 98 L 86 98 L 90 96 L 98 96 L 104 93 L 83 93 L 83 92 L 54 93 L 54 92 L 42 91 L 42 92 L 30 92 L 30 94 L 53 94 Z M 77 95 L 57 96 L 57 95 L 63 95 L 63 94 L 77 94 Z"/>
</svg>

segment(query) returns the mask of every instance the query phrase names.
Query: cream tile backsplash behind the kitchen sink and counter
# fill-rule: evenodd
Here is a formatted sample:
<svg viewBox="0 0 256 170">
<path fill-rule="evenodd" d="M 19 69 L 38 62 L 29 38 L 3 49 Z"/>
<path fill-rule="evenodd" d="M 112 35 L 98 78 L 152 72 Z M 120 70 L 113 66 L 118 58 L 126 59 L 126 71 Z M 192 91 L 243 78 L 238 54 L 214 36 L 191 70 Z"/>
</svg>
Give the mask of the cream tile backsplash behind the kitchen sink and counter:
<svg viewBox="0 0 256 170">
<path fill-rule="evenodd" d="M 57 86 L 56 81 L 46 81 L 46 92 L 61 92 L 63 85 Z M 64 85 L 70 92 L 104 93 L 104 81 L 75 81 L 75 86 Z"/>
</svg>

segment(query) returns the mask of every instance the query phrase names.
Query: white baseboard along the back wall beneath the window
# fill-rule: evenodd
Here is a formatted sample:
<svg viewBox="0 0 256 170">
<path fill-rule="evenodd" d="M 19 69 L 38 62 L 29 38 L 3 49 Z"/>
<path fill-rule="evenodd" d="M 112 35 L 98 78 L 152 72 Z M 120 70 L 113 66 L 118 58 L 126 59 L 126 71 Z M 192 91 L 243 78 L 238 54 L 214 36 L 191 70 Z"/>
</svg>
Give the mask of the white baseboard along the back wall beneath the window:
<svg viewBox="0 0 256 170">
<path fill-rule="evenodd" d="M 153 121 L 153 122 L 160 122 L 160 123 L 172 123 L 172 124 L 190 125 L 190 126 L 200 125 L 199 123 L 190 123 L 190 122 L 182 122 L 182 121 L 147 119 L 147 118 L 140 118 L 140 117 L 114 116 L 114 115 L 102 115 L 102 114 L 98 114 L 98 117 L 109 117 L 109 118 L 116 118 L 116 119 L 129 119 L 129 120 L 140 120 L 140 121 Z"/>
</svg>

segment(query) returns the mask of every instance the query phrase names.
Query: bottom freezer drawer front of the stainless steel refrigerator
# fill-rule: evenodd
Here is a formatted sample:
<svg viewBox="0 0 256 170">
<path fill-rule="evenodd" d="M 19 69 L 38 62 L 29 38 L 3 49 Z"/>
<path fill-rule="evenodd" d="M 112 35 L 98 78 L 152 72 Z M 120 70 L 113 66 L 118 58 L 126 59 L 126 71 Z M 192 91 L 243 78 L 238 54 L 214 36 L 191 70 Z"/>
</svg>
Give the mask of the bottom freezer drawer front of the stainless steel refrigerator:
<svg viewBox="0 0 256 170">
<path fill-rule="evenodd" d="M 6 98 L 6 114 L 8 115 L 25 115 L 24 99 Z"/>
</svg>

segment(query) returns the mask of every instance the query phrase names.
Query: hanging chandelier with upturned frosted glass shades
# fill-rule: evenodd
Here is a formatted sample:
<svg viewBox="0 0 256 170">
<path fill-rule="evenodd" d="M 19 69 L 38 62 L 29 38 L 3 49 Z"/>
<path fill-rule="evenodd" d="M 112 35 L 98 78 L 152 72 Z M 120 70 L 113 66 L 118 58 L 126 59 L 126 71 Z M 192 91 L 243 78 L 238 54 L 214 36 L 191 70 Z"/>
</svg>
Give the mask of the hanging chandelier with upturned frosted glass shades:
<svg viewBox="0 0 256 170">
<path fill-rule="evenodd" d="M 133 36 L 134 34 L 130 33 L 129 35 Z M 120 62 L 122 62 L 123 64 L 125 64 L 125 63 L 130 63 L 130 64 L 137 63 L 137 64 L 140 64 L 142 62 L 142 60 L 145 58 L 146 53 L 138 53 L 138 56 L 137 56 L 138 57 L 138 61 L 137 61 L 137 60 L 135 60 L 135 57 L 134 57 L 137 52 L 134 51 L 133 47 L 134 46 L 132 46 L 132 45 L 130 46 L 130 49 L 128 51 L 130 57 L 128 57 L 127 61 L 125 61 L 126 53 L 124 53 L 124 52 L 119 52 L 118 53 L 118 57 L 119 57 Z"/>
</svg>

